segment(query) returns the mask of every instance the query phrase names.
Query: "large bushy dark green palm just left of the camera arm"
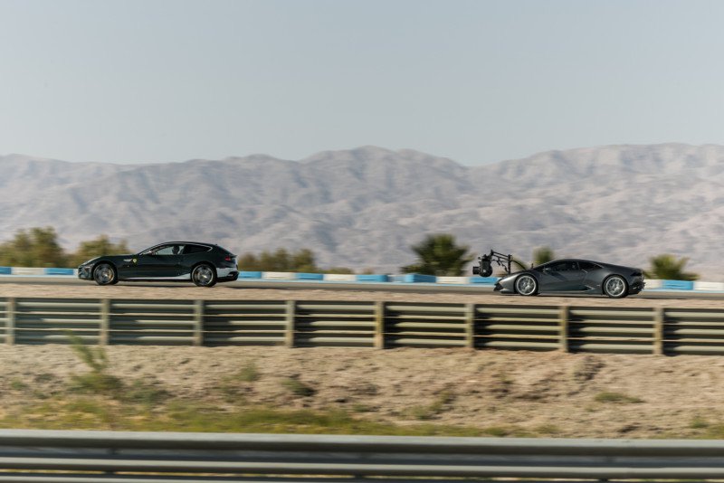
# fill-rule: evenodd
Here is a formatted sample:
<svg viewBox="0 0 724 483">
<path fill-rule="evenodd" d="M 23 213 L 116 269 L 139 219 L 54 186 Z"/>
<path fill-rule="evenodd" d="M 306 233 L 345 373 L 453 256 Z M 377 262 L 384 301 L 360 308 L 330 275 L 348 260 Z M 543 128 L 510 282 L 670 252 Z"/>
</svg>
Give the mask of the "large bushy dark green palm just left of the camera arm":
<svg viewBox="0 0 724 483">
<path fill-rule="evenodd" d="M 455 237 L 447 233 L 427 235 L 410 248 L 417 255 L 417 262 L 402 267 L 403 273 L 460 276 L 465 265 L 474 259 L 468 252 L 470 247 L 458 245 Z"/>
</svg>

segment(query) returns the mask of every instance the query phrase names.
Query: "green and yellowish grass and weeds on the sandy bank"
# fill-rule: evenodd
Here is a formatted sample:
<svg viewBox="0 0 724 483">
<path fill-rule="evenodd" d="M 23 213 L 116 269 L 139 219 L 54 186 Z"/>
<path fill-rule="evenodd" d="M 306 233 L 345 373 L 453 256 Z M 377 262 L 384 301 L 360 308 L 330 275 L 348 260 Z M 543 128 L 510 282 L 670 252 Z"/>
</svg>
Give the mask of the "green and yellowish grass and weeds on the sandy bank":
<svg viewBox="0 0 724 483">
<path fill-rule="evenodd" d="M 71 349 L 86 367 L 81 374 L 55 380 L 44 374 L 44 383 L 53 383 L 50 392 L 33 389 L 33 383 L 14 380 L 10 389 L 18 393 L 18 403 L 5 407 L 0 428 L 45 430 L 110 431 L 205 431 L 264 433 L 380 434 L 410 436 L 536 436 L 515 425 L 468 427 L 414 422 L 432 420 L 446 411 L 454 395 L 444 392 L 427 406 L 411 409 L 411 424 L 394 424 L 364 417 L 368 408 L 350 410 L 286 410 L 247 404 L 245 391 L 264 377 L 251 361 L 235 374 L 224 377 L 218 393 L 191 398 L 169 393 L 155 380 L 120 378 L 113 374 L 109 355 L 102 346 L 86 346 L 71 334 Z M 40 382 L 35 378 L 34 383 Z M 296 377 L 280 380 L 292 397 L 310 398 L 315 390 Z M 542 431 L 542 430 L 541 430 Z M 549 428 L 546 429 L 549 433 Z M 541 432 L 540 435 L 547 433 Z"/>
</svg>

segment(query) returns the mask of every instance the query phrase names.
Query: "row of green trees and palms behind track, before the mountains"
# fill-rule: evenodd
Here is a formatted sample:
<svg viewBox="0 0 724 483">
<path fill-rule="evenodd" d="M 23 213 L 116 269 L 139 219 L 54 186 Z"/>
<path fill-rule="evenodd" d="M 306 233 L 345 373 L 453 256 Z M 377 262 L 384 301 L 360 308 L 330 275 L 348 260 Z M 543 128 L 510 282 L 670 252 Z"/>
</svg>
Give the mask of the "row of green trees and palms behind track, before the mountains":
<svg viewBox="0 0 724 483">
<path fill-rule="evenodd" d="M 416 260 L 400 268 L 403 273 L 421 273 L 438 276 L 461 276 L 468 273 L 469 264 L 475 260 L 470 247 L 458 244 L 449 233 L 427 235 L 422 242 L 410 247 Z M 12 240 L 0 243 L 0 266 L 4 267 L 77 267 L 82 262 L 100 255 L 129 253 L 125 241 L 110 242 L 107 235 L 81 242 L 76 251 L 64 251 L 58 242 L 58 234 L 52 227 L 35 227 L 15 232 Z M 555 260 L 556 254 L 549 247 L 533 251 L 533 264 L 540 265 Z M 519 268 L 527 265 L 513 260 Z M 687 258 L 663 253 L 649 259 L 649 279 L 695 280 L 696 273 L 685 270 Z M 308 273 L 354 273 L 346 267 L 320 268 L 313 251 L 302 248 L 288 251 L 280 248 L 260 253 L 246 252 L 238 259 L 239 268 L 246 271 L 295 271 Z M 372 270 L 365 270 L 371 273 Z"/>
</svg>

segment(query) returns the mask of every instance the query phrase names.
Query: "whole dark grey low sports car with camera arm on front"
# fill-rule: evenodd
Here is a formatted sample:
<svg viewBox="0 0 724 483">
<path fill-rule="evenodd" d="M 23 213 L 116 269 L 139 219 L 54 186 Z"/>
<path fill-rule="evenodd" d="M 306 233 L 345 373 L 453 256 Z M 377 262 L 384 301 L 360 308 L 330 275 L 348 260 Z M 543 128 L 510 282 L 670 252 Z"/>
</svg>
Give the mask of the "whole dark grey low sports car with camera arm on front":
<svg viewBox="0 0 724 483">
<path fill-rule="evenodd" d="M 591 260 L 553 260 L 498 280 L 500 293 L 572 292 L 624 298 L 643 290 L 643 270 Z"/>
</svg>

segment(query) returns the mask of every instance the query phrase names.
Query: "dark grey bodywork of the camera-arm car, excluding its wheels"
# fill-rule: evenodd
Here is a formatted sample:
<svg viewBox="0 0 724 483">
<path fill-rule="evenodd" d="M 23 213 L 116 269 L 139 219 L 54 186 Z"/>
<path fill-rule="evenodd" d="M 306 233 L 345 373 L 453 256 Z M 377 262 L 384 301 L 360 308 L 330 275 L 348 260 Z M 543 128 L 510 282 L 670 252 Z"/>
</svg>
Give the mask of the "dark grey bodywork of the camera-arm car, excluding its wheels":
<svg viewBox="0 0 724 483">
<path fill-rule="evenodd" d="M 553 260 L 538 267 L 520 270 L 506 275 L 495 284 L 500 293 L 518 293 L 516 280 L 523 274 L 529 274 L 538 281 L 538 293 L 566 292 L 586 295 L 605 295 L 605 280 L 618 275 L 626 281 L 626 295 L 643 290 L 643 270 L 602 263 L 593 260 L 565 259 Z"/>
</svg>

